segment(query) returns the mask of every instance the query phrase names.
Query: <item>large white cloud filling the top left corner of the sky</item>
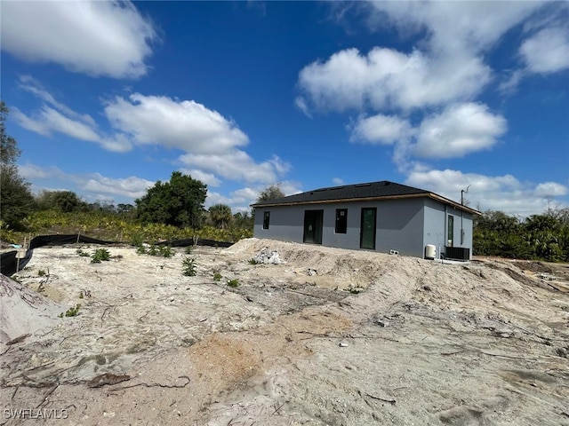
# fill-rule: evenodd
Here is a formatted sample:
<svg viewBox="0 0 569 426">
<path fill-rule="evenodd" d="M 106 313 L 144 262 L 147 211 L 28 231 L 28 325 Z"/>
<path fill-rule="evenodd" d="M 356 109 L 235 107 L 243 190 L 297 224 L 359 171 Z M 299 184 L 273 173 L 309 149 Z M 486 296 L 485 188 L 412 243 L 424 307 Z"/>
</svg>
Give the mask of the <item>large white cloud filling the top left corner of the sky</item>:
<svg viewBox="0 0 569 426">
<path fill-rule="evenodd" d="M 129 1 L 3 2 L 2 49 L 87 75 L 139 77 L 156 40 Z"/>
</svg>

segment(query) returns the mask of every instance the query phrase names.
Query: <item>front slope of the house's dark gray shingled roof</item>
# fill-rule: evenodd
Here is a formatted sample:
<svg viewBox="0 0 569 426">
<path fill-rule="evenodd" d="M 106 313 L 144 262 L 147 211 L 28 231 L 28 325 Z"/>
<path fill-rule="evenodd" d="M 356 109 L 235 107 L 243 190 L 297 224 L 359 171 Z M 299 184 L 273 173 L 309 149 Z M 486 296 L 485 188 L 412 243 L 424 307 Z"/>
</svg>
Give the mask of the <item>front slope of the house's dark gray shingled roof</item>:
<svg viewBox="0 0 569 426">
<path fill-rule="evenodd" d="M 279 198 L 277 200 L 260 201 L 253 206 L 275 205 L 275 204 L 302 204 L 317 201 L 344 201 L 355 200 L 358 198 L 382 198 L 394 197 L 401 195 L 418 195 L 429 194 L 419 188 L 413 186 L 396 184 L 389 180 L 381 180 L 381 182 L 370 182 L 367 184 L 341 185 L 331 186 L 329 188 L 320 188 L 306 193 L 296 193 L 288 197 Z"/>
</svg>

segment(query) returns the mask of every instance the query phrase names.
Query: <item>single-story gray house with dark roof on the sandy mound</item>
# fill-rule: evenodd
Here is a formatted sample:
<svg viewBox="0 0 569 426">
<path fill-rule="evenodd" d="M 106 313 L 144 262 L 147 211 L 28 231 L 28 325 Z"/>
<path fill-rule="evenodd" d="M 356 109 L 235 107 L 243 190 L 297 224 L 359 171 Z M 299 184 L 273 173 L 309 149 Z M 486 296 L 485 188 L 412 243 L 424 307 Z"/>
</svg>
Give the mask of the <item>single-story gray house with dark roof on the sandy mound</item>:
<svg viewBox="0 0 569 426">
<path fill-rule="evenodd" d="M 387 180 L 260 201 L 253 236 L 426 258 L 469 260 L 479 215 L 437 193 Z"/>
</svg>

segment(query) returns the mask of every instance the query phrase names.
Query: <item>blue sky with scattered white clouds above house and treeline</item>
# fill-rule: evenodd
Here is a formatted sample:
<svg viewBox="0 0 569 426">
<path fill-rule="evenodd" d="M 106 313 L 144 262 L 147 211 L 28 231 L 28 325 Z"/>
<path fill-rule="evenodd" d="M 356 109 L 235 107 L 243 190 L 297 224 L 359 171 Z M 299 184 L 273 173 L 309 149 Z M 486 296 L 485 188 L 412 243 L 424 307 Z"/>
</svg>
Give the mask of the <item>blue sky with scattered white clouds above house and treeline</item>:
<svg viewBox="0 0 569 426">
<path fill-rule="evenodd" d="M 526 217 L 569 207 L 569 3 L 12 2 L 1 90 L 20 174 L 206 207 L 391 180 Z"/>
</svg>

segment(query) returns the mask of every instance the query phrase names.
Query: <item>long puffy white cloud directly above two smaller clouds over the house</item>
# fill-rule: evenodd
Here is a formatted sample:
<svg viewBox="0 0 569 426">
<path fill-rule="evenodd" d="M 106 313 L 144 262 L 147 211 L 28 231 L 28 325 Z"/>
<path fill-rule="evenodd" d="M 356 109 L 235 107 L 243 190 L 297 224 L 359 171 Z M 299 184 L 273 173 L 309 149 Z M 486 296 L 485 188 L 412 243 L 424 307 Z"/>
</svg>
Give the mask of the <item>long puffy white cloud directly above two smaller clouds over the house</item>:
<svg viewBox="0 0 569 426">
<path fill-rule="evenodd" d="M 325 62 L 301 70 L 297 106 L 321 111 L 350 108 L 413 109 L 470 99 L 490 81 L 490 68 L 479 58 L 454 55 L 433 59 L 375 47 L 334 53 Z"/>
</svg>

